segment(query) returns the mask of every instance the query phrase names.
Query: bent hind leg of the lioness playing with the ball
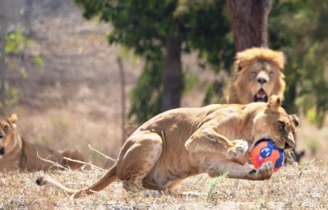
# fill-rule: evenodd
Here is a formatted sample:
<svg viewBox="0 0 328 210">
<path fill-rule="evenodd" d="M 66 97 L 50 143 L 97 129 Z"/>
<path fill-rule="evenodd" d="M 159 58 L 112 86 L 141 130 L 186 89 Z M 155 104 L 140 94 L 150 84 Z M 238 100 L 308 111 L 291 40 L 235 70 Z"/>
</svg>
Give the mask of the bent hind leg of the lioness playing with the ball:
<svg viewBox="0 0 328 210">
<path fill-rule="evenodd" d="M 144 191 L 143 178 L 160 158 L 163 150 L 161 137 L 153 132 L 135 135 L 135 143 L 125 153 L 118 167 L 118 179 L 127 191 Z"/>
</svg>

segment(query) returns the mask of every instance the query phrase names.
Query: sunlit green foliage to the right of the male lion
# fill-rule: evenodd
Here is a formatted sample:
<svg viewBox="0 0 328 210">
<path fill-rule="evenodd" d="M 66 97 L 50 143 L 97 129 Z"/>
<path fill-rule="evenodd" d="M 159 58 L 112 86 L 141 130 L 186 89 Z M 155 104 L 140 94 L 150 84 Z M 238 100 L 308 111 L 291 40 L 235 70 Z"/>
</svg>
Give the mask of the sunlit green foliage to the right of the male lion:
<svg viewBox="0 0 328 210">
<path fill-rule="evenodd" d="M 327 14 L 327 1 L 280 0 L 269 17 L 271 47 L 287 56 L 284 105 L 319 126 L 328 110 Z"/>
</svg>

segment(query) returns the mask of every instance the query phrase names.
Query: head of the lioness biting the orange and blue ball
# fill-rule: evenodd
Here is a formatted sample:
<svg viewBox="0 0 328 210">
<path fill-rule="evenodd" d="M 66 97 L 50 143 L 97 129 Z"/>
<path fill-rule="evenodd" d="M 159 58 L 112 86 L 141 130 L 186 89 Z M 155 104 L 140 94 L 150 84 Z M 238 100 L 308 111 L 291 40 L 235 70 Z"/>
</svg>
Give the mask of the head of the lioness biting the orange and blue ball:
<svg viewBox="0 0 328 210">
<path fill-rule="evenodd" d="M 280 106 L 280 98 L 273 95 L 269 98 L 265 109 L 254 119 L 252 137 L 255 142 L 269 139 L 285 152 L 290 152 L 295 145 L 294 135 L 299 119 L 296 115 L 288 115 Z"/>
</svg>

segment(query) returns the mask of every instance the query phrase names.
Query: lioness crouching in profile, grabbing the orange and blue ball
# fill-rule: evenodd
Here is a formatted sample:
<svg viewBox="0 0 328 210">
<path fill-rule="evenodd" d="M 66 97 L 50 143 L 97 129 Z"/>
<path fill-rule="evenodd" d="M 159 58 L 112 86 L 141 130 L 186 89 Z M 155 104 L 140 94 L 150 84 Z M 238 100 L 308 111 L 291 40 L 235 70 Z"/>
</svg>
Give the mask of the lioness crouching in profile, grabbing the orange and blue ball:
<svg viewBox="0 0 328 210">
<path fill-rule="evenodd" d="M 99 191 L 116 179 L 128 191 L 173 189 L 183 179 L 224 172 L 236 179 L 263 180 L 273 173 L 267 162 L 259 169 L 245 164 L 255 142 L 271 139 L 281 149 L 294 146 L 296 115 L 287 115 L 280 99 L 247 105 L 207 105 L 163 112 L 145 122 L 123 145 L 116 164 L 97 182 L 68 189 L 42 175 L 37 184 L 50 182 L 68 194 Z"/>
</svg>

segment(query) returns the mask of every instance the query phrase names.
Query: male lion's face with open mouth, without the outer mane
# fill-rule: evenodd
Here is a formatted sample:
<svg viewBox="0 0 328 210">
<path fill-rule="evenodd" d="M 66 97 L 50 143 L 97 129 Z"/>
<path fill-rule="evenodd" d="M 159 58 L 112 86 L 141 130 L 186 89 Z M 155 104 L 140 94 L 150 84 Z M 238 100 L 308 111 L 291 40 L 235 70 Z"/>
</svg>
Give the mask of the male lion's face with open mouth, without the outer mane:
<svg viewBox="0 0 328 210">
<path fill-rule="evenodd" d="M 277 66 L 268 61 L 255 61 L 249 66 L 240 66 L 238 80 L 245 83 L 245 103 L 267 102 L 271 95 L 281 95 L 285 89 L 284 75 Z M 280 88 L 278 88 L 280 87 Z"/>
</svg>

